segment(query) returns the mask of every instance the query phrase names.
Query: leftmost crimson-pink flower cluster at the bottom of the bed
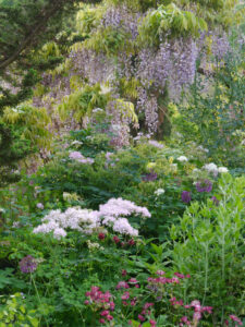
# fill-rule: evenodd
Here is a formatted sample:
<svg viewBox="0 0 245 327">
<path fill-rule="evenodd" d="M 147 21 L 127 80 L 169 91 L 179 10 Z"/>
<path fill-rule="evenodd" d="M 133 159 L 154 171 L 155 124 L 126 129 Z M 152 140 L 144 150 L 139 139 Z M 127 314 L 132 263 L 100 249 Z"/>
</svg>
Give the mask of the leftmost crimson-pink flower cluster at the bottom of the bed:
<svg viewBox="0 0 245 327">
<path fill-rule="evenodd" d="M 96 310 L 100 311 L 101 318 L 99 319 L 100 324 L 106 324 L 113 319 L 111 312 L 114 310 L 114 302 L 111 301 L 111 293 L 109 291 L 102 292 L 99 287 L 91 287 L 90 292 L 86 292 L 86 296 L 89 300 L 85 300 L 86 305 L 93 305 Z"/>
</svg>

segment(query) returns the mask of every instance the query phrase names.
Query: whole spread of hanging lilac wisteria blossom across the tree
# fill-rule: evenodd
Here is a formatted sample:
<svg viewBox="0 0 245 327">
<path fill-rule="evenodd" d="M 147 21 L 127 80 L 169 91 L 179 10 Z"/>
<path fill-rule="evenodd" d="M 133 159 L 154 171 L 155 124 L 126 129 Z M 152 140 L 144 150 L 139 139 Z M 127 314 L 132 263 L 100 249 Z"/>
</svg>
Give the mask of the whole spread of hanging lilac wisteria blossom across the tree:
<svg viewBox="0 0 245 327">
<path fill-rule="evenodd" d="M 132 11 L 126 4 L 106 5 L 99 23 L 91 28 L 88 39 L 72 47 L 69 56 L 69 78 L 79 76 L 84 83 L 94 85 L 109 85 L 113 99 L 123 98 L 131 101 L 137 113 L 145 117 L 144 128 L 149 133 L 157 132 L 159 126 L 159 98 L 166 97 L 176 100 L 181 92 L 194 82 L 196 62 L 201 55 L 201 65 L 207 68 L 209 48 L 216 60 L 221 61 L 229 51 L 226 34 L 222 31 L 204 32 L 199 37 L 184 33 L 183 36 L 172 37 L 169 32 L 161 36 L 159 47 L 142 45 L 139 41 L 139 26 L 143 19 L 150 14 L 150 10 L 143 13 Z M 119 47 L 117 53 L 110 52 L 110 46 L 117 49 L 115 34 L 109 34 L 102 43 L 101 51 L 97 36 L 105 29 L 121 33 L 124 37 L 124 48 Z M 97 35 L 97 36 L 96 36 Z M 94 37 L 96 36 L 96 37 Z M 212 40 L 208 45 L 207 40 Z M 93 44 L 94 43 L 94 44 Z M 122 43 L 122 40 L 120 40 Z M 105 52 L 105 47 L 107 51 Z M 111 48 L 111 49 L 112 49 Z M 58 76 L 60 78 L 60 76 Z M 54 78 L 56 80 L 56 78 Z M 132 85 L 125 93 L 122 84 Z M 56 98 L 71 93 L 71 85 L 56 88 Z M 168 92 L 167 92 L 168 90 Z M 128 143 L 132 119 L 124 119 L 118 112 L 114 101 L 108 104 L 106 116 L 112 119 L 112 125 L 118 124 L 115 144 L 121 146 Z M 113 132 L 113 128 L 111 131 Z M 115 133 L 115 134 L 117 134 Z"/>
</svg>

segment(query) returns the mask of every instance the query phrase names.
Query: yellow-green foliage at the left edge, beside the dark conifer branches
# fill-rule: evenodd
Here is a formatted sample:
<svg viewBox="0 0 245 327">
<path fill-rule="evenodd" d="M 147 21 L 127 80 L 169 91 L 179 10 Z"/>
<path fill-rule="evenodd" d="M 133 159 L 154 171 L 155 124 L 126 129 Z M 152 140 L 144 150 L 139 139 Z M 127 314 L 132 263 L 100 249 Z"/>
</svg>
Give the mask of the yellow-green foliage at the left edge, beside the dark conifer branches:
<svg viewBox="0 0 245 327">
<path fill-rule="evenodd" d="M 48 125 L 51 119 L 45 108 L 32 107 L 28 104 L 7 108 L 1 120 L 13 128 L 21 128 L 22 137 L 29 140 L 34 146 L 49 147 L 51 133 Z"/>
</svg>

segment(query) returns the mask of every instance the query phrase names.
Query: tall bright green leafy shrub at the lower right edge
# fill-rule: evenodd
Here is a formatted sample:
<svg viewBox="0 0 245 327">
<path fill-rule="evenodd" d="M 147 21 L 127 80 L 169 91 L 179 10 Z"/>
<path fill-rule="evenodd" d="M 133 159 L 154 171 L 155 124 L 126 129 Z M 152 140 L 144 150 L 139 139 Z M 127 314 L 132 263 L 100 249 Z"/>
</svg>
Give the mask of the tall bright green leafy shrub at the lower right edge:
<svg viewBox="0 0 245 327">
<path fill-rule="evenodd" d="M 213 324 L 228 314 L 244 314 L 245 178 L 223 175 L 218 202 L 194 202 L 173 226 L 173 267 L 194 279 L 193 294 L 213 306 Z"/>
</svg>

